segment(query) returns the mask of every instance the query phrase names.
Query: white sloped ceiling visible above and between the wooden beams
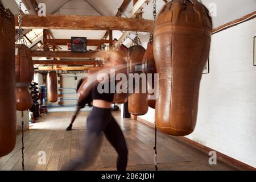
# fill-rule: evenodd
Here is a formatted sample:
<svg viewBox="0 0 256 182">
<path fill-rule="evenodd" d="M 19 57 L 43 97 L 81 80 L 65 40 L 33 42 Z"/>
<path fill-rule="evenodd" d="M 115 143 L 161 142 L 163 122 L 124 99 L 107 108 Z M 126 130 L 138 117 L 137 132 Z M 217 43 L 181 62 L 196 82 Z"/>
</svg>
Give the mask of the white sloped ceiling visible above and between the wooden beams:
<svg viewBox="0 0 256 182">
<path fill-rule="evenodd" d="M 209 7 L 210 3 L 216 3 L 217 16 L 213 17 L 213 28 L 232 20 L 241 18 L 244 15 L 256 11 L 256 0 L 201 0 L 205 6 Z M 2 0 L 3 4 L 14 14 L 18 14 L 18 8 L 15 0 Z M 74 15 L 104 15 L 114 16 L 118 7 L 121 6 L 122 0 L 37 0 L 38 3 L 46 3 L 47 14 L 74 14 Z M 163 0 L 156 0 L 157 13 L 164 6 Z M 130 16 L 133 9 L 133 1 L 129 4 L 124 14 Z M 153 19 L 152 0 L 143 9 L 144 19 Z M 88 39 L 101 39 L 105 31 L 74 31 L 74 30 L 52 30 L 55 38 L 71 38 L 71 36 L 86 36 Z M 122 35 L 120 31 L 114 31 L 114 38 Z M 139 33 L 143 46 L 147 44 L 148 34 Z M 129 46 L 130 40 L 124 43 Z"/>
</svg>

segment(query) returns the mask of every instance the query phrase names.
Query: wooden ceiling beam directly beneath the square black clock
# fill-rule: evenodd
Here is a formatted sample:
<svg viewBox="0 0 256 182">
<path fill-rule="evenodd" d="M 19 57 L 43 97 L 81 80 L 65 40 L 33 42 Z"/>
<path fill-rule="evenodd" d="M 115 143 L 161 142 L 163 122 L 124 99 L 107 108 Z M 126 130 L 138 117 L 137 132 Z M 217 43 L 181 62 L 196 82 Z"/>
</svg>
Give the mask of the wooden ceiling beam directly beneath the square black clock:
<svg viewBox="0 0 256 182">
<path fill-rule="evenodd" d="M 88 51 L 88 52 L 71 52 L 71 51 L 30 51 L 32 57 L 69 57 L 69 58 L 96 58 L 105 57 L 108 51 Z M 117 51 L 120 56 L 126 57 L 125 51 Z"/>
</svg>

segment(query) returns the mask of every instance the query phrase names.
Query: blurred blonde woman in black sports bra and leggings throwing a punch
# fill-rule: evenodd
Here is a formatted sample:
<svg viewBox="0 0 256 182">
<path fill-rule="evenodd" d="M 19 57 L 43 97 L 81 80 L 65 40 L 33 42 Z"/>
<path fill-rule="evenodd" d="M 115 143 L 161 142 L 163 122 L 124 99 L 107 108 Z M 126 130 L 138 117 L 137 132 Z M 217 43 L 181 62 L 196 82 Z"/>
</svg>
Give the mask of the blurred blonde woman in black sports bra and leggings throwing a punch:
<svg viewBox="0 0 256 182">
<path fill-rule="evenodd" d="M 114 98 L 114 93 L 110 93 L 110 86 L 113 82 L 111 84 L 110 80 L 105 80 L 105 85 L 102 86 L 102 89 L 107 86 L 107 83 L 109 86 L 108 93 L 99 92 L 102 79 L 98 76 L 100 76 L 100 73 L 110 75 L 110 68 L 117 68 L 115 73 L 119 73 L 125 72 L 127 66 L 122 57 L 119 57 L 116 53 L 111 53 L 106 58 L 106 64 L 102 67 L 101 71 L 91 75 L 88 81 L 84 82 L 79 89 L 79 104 L 88 97 L 90 90 L 92 90 L 93 109 L 88 115 L 86 122 L 86 146 L 82 158 L 72 161 L 68 167 L 64 166 L 62 170 L 76 170 L 80 167 L 86 168 L 91 166 L 100 151 L 103 134 L 105 134 L 105 137 L 112 144 L 115 151 L 117 151 L 117 170 L 124 171 L 126 169 L 128 150 L 125 137 L 110 110 Z"/>
</svg>

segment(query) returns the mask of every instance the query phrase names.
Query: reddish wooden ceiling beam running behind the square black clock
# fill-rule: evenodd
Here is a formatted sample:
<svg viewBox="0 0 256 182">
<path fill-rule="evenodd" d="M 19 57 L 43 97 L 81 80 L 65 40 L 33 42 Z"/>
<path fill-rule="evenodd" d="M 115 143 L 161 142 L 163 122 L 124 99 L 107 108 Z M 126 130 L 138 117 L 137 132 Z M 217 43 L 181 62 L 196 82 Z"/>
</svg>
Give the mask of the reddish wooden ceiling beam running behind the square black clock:
<svg viewBox="0 0 256 182">
<path fill-rule="evenodd" d="M 55 44 L 56 46 L 67 46 L 68 43 L 71 43 L 71 39 L 47 39 L 46 43 Z M 97 39 L 88 39 L 86 40 L 87 46 L 100 46 L 101 44 L 110 44 L 111 40 L 97 40 Z"/>
</svg>

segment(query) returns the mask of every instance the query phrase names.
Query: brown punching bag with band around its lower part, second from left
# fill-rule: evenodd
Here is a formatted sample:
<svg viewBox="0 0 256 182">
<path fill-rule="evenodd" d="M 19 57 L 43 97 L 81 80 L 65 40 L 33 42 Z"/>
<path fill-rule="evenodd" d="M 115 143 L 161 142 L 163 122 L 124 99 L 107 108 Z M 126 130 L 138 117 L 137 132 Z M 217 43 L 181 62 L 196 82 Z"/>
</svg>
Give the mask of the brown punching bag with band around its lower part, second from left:
<svg viewBox="0 0 256 182">
<path fill-rule="evenodd" d="M 30 50 L 24 44 L 18 44 L 18 55 L 15 56 L 16 110 L 28 110 L 32 106 L 32 98 L 28 91 L 34 77 L 34 65 Z"/>
</svg>

